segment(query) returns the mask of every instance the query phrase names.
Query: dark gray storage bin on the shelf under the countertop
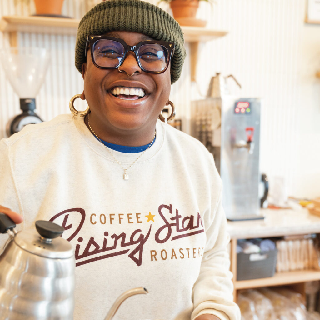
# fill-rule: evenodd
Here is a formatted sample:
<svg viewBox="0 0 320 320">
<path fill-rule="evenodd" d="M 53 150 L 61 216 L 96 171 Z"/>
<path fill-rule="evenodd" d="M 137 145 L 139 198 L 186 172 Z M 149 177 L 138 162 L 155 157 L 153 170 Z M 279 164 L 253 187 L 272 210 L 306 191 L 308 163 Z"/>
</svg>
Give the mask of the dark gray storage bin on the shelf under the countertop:
<svg viewBox="0 0 320 320">
<path fill-rule="evenodd" d="M 237 280 L 268 278 L 276 272 L 277 250 L 237 254 Z"/>
</svg>

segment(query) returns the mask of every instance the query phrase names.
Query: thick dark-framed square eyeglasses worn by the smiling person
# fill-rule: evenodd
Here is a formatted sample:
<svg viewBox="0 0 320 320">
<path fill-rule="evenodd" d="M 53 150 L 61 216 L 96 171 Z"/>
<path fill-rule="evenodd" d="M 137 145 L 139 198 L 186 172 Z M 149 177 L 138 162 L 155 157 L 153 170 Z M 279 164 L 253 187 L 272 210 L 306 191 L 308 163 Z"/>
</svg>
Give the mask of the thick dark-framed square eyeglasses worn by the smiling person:
<svg viewBox="0 0 320 320">
<path fill-rule="evenodd" d="M 162 73 L 173 56 L 174 43 L 156 40 L 141 41 L 130 46 L 122 39 L 109 36 L 88 36 L 86 55 L 90 46 L 93 64 L 102 69 L 116 69 L 123 63 L 127 52 L 134 52 L 141 70 Z"/>
</svg>

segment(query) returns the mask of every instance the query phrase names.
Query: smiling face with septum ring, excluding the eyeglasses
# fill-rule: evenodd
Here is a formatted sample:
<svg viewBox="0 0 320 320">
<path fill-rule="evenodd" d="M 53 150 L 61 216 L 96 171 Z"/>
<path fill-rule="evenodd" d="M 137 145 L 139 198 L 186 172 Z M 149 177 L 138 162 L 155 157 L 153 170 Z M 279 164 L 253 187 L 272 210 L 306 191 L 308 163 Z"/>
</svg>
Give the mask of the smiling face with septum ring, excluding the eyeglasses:
<svg viewBox="0 0 320 320">
<path fill-rule="evenodd" d="M 106 35 L 121 38 L 129 45 L 151 40 L 143 34 L 128 31 L 108 32 Z M 153 137 L 156 120 L 169 100 L 170 65 L 164 73 L 147 73 L 140 69 L 134 53 L 128 52 L 120 70 L 124 72 L 97 68 L 87 52 L 82 76 L 84 96 L 91 110 L 90 125 L 103 140 L 119 143 L 115 137 L 131 138 L 135 142 L 130 144 L 141 145 L 144 141 L 137 142 L 140 137 L 147 144 Z M 142 90 L 144 96 L 114 94 L 117 89 L 124 89 L 127 93 L 132 88 L 138 89 L 139 93 Z"/>
</svg>

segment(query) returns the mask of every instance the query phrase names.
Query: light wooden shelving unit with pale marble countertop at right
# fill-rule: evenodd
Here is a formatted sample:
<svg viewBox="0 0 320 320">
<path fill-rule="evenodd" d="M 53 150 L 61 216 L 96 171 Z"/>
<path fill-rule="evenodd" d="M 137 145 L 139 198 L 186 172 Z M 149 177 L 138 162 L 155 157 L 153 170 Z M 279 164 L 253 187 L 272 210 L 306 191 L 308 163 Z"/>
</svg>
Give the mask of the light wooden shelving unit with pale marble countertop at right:
<svg viewBox="0 0 320 320">
<path fill-rule="evenodd" d="M 320 270 L 301 270 L 276 273 L 273 277 L 241 280 L 236 279 L 238 239 L 271 238 L 287 235 L 320 233 L 320 218 L 308 213 L 307 209 L 262 209 L 264 220 L 228 222 L 231 237 L 231 271 L 234 274 L 234 300 L 241 289 L 291 285 L 297 292 L 304 294 L 304 283 L 320 280 Z"/>
</svg>

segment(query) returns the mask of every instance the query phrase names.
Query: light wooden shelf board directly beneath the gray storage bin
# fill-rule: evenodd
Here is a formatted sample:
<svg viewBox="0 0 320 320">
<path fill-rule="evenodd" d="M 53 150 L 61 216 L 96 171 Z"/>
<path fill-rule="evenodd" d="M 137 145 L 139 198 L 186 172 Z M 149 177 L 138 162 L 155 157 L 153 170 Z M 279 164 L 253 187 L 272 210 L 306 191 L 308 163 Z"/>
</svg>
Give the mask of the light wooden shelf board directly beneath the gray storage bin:
<svg viewBox="0 0 320 320">
<path fill-rule="evenodd" d="M 251 289 L 320 280 L 320 271 L 301 270 L 276 273 L 273 277 L 235 281 L 235 289 Z"/>
</svg>

